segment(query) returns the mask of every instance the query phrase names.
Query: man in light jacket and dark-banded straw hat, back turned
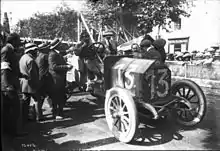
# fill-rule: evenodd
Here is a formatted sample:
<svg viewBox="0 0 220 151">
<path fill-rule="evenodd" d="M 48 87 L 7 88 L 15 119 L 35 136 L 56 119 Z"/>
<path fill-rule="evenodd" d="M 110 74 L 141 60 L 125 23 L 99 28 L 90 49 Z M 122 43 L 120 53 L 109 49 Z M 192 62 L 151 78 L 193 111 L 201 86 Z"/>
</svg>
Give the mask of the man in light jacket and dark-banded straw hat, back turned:
<svg viewBox="0 0 220 151">
<path fill-rule="evenodd" d="M 21 72 L 21 92 L 23 93 L 23 109 L 24 122 L 27 122 L 29 115 L 29 105 L 31 97 L 34 99 L 34 107 L 36 112 L 36 121 L 39 121 L 42 115 L 39 107 L 39 73 L 35 62 L 38 47 L 34 43 L 25 44 L 24 55 L 19 61 L 19 68 Z"/>
</svg>

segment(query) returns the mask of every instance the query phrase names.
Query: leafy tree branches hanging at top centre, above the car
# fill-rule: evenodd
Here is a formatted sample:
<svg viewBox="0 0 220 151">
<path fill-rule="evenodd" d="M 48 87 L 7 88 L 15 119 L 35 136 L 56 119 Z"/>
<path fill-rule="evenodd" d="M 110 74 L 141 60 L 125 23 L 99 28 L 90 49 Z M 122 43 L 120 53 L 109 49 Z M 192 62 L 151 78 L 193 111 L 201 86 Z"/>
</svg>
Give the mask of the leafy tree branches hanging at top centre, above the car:
<svg viewBox="0 0 220 151">
<path fill-rule="evenodd" d="M 168 18 L 177 21 L 181 15 L 189 16 L 187 0 L 88 0 L 88 6 L 88 19 L 108 25 L 120 21 L 125 27 L 134 25 L 147 33 L 155 26 L 165 25 Z"/>
</svg>

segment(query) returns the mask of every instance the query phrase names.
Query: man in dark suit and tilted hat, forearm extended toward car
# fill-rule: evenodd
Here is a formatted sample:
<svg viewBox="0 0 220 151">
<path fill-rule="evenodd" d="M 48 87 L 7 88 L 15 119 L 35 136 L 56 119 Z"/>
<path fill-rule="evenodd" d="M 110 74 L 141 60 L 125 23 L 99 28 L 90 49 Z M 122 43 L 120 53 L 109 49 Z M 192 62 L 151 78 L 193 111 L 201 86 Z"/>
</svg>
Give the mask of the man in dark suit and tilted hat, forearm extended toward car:
<svg viewBox="0 0 220 151">
<path fill-rule="evenodd" d="M 60 54 L 60 51 L 57 50 L 61 41 L 55 38 L 51 42 L 48 56 L 49 64 L 49 73 L 52 76 L 52 85 L 51 85 L 51 99 L 53 105 L 53 117 L 55 119 L 63 118 L 63 107 L 65 103 L 65 86 L 66 86 L 66 72 L 72 68 L 71 65 L 68 65 L 63 56 Z"/>
</svg>

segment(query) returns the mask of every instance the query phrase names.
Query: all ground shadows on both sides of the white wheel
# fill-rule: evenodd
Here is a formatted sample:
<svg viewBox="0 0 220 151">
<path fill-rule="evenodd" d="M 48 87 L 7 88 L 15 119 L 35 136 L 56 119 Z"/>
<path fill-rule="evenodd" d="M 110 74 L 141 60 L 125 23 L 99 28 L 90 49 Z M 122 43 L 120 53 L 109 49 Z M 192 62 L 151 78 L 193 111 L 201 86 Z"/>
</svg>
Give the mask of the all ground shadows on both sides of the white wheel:
<svg viewBox="0 0 220 151">
<path fill-rule="evenodd" d="M 208 99 L 207 115 L 198 126 L 191 129 L 180 127 L 174 122 L 172 117 L 167 120 L 147 120 L 140 117 L 139 135 L 131 144 L 137 146 L 156 146 L 173 140 L 180 141 L 184 137 L 181 135 L 181 131 L 199 128 L 208 132 L 207 136 L 204 136 L 201 142 L 204 149 L 219 149 L 220 111 L 216 110 L 216 106 L 220 107 L 220 101 L 216 100 L 216 96 L 214 98 L 209 97 Z M 67 134 L 62 131 L 58 134 L 51 134 L 54 128 L 67 128 L 102 118 L 104 116 L 103 107 L 104 100 L 97 100 L 91 96 L 87 98 L 81 97 L 78 101 L 68 101 L 65 110 L 65 115 L 67 115 L 66 120 L 39 124 L 30 123 L 28 127 L 30 135 L 23 139 L 14 140 L 12 144 L 16 151 L 64 151 L 90 149 L 92 147 L 115 143 L 117 140 L 109 137 L 88 143 L 81 143 L 78 140 L 67 140 L 64 143 L 57 144 L 54 139 L 64 137 Z M 48 121 L 50 120 L 48 119 Z"/>
</svg>

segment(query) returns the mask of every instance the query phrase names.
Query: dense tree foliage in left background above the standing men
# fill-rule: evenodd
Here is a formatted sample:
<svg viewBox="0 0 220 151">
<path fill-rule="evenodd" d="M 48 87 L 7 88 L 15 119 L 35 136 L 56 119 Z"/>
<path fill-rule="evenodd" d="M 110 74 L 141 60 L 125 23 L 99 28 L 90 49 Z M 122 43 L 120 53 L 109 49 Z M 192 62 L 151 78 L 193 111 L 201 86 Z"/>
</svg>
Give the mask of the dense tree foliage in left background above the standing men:
<svg viewBox="0 0 220 151">
<path fill-rule="evenodd" d="M 17 24 L 21 37 L 76 40 L 77 13 L 65 3 L 52 13 L 35 13 Z"/>
</svg>

